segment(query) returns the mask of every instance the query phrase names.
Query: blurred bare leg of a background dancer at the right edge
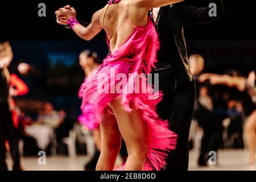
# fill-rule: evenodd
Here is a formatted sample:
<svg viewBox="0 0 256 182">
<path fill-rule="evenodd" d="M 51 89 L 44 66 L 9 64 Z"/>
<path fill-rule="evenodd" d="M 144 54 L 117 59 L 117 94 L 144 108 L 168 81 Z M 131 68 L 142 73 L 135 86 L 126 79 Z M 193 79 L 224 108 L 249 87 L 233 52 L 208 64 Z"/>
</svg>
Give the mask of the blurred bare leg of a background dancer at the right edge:
<svg viewBox="0 0 256 182">
<path fill-rule="evenodd" d="M 249 163 L 255 162 L 255 143 L 256 143 L 256 111 L 254 111 L 245 124 L 246 140 L 249 147 Z"/>
</svg>

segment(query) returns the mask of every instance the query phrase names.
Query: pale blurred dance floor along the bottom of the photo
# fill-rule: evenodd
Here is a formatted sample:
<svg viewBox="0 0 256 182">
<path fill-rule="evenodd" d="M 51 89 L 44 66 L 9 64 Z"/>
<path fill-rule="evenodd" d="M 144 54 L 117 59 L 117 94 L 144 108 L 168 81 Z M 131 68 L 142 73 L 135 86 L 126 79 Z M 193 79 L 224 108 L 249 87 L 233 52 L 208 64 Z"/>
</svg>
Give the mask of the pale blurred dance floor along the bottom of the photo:
<svg viewBox="0 0 256 182">
<path fill-rule="evenodd" d="M 190 151 L 189 156 L 189 170 L 191 171 L 256 171 L 256 165 L 247 165 L 247 151 L 245 150 L 220 150 L 217 165 L 210 165 L 208 167 L 197 166 L 198 151 Z M 26 157 L 22 158 L 22 165 L 23 168 L 28 171 L 81 171 L 84 169 L 84 164 L 88 162 L 88 160 L 88 156 L 76 156 L 74 158 L 67 156 L 49 156 L 46 157 L 46 164 L 40 165 L 38 164 L 38 158 Z M 10 166 L 10 159 L 7 159 L 7 163 Z"/>
</svg>

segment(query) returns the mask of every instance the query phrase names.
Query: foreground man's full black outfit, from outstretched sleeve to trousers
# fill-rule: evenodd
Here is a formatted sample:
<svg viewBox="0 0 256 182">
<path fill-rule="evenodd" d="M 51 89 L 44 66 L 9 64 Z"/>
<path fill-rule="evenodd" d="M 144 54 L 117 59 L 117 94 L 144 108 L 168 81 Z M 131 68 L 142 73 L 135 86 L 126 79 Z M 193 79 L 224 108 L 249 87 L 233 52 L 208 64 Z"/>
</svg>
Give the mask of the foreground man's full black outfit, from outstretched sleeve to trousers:
<svg viewBox="0 0 256 182">
<path fill-rule="evenodd" d="M 159 74 L 159 90 L 164 94 L 157 111 L 160 118 L 168 119 L 171 130 L 178 135 L 176 150 L 170 152 L 166 170 L 188 169 L 188 135 L 195 103 L 195 84 L 189 71 L 183 28 L 223 18 L 222 1 L 212 2 L 217 5 L 217 17 L 209 16 L 208 7 L 172 5 L 161 7 L 156 18 L 160 51 L 159 63 L 152 73 Z"/>
</svg>

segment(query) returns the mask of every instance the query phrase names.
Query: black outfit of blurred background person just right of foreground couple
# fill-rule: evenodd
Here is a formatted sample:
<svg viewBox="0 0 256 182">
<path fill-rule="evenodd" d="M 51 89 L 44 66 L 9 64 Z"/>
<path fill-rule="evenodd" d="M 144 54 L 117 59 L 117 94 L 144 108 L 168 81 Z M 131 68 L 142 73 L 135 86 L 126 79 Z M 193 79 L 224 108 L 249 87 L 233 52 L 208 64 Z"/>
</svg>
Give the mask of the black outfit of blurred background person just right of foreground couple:
<svg viewBox="0 0 256 182">
<path fill-rule="evenodd" d="M 212 110 L 208 110 L 200 103 L 200 94 L 197 96 L 194 118 L 204 131 L 198 164 L 199 166 L 206 166 L 209 152 L 215 151 L 217 153 L 218 148 L 223 143 L 222 133 L 224 127 L 222 126 L 222 121 L 229 116 L 227 110 L 228 101 L 225 98 L 225 86 L 210 85 L 208 81 L 201 83 L 196 80 L 196 83 L 198 92 L 203 86 L 207 88 L 207 94 L 212 100 L 213 107 Z"/>
</svg>

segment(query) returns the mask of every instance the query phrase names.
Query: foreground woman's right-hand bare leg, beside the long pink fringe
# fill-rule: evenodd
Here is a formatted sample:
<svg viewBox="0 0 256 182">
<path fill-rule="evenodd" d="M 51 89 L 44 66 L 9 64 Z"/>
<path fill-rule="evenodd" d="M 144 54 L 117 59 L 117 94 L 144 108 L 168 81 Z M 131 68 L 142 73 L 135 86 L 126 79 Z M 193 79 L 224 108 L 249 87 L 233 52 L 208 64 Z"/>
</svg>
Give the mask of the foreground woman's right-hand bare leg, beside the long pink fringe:
<svg viewBox="0 0 256 182">
<path fill-rule="evenodd" d="M 128 158 L 125 164 L 126 171 L 139 171 L 147 155 L 146 130 L 139 117 L 138 111 L 127 113 L 122 107 L 120 99 L 115 99 L 111 104 L 119 131 L 125 140 Z"/>
</svg>

